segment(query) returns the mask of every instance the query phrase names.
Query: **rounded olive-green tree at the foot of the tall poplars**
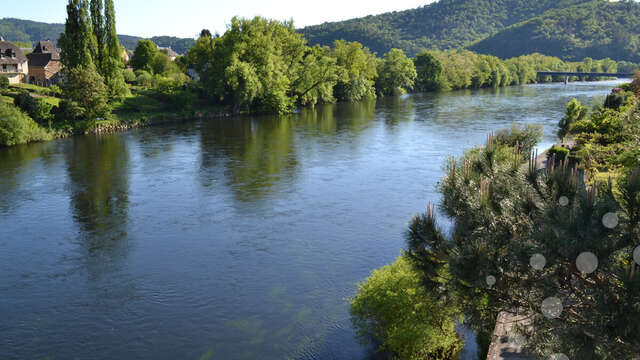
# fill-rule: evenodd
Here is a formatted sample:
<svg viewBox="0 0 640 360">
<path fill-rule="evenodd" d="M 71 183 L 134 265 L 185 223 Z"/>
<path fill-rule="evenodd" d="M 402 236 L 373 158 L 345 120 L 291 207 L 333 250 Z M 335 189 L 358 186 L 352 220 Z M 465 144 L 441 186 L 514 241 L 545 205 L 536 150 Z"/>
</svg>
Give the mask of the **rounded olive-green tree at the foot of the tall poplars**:
<svg viewBox="0 0 640 360">
<path fill-rule="evenodd" d="M 63 101 L 72 118 L 94 121 L 110 113 L 109 90 L 95 67 L 71 69 L 64 83 Z"/>
</svg>

